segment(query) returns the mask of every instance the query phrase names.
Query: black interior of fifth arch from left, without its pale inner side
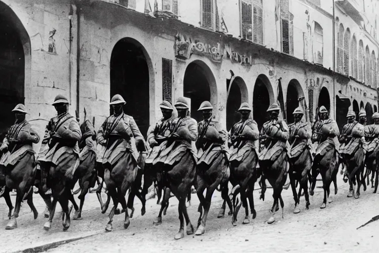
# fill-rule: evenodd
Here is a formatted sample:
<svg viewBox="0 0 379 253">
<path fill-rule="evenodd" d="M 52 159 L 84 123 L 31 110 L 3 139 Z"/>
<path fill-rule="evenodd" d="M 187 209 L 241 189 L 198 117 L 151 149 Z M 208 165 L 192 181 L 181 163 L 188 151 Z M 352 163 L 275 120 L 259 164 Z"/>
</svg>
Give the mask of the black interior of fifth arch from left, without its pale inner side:
<svg viewBox="0 0 379 253">
<path fill-rule="evenodd" d="M 263 124 L 268 120 L 267 109 L 270 106 L 270 96 L 266 85 L 257 79 L 253 94 L 253 117 L 261 131 Z"/>
</svg>

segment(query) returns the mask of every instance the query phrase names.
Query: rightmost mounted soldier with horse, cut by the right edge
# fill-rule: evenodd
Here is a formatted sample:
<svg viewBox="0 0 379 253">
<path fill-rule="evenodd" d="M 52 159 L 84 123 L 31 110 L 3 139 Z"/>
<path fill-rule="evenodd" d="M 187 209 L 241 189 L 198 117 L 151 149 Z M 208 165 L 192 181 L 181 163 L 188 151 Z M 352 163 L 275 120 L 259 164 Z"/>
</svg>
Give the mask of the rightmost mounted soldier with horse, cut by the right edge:
<svg viewBox="0 0 379 253">
<path fill-rule="evenodd" d="M 377 192 L 378 189 L 378 164 L 377 157 L 379 154 L 379 113 L 375 112 L 373 114 L 374 124 L 365 126 L 365 145 L 364 148 L 366 150 L 366 174 L 364 178 L 367 176 L 367 185 L 370 184 L 369 175 L 371 176 L 371 187 L 375 188 L 374 193 Z M 376 176 L 375 183 L 374 177 Z"/>
</svg>

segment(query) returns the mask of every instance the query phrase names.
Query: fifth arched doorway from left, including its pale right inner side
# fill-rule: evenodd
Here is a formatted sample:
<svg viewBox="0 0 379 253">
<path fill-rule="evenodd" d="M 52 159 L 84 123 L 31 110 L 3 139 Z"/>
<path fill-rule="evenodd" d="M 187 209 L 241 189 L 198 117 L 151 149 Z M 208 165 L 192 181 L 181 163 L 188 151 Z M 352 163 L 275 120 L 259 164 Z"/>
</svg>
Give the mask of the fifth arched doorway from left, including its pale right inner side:
<svg viewBox="0 0 379 253">
<path fill-rule="evenodd" d="M 259 130 L 268 120 L 266 111 L 273 101 L 272 86 L 268 78 L 261 74 L 255 81 L 253 93 L 253 118 L 257 122 Z"/>
</svg>

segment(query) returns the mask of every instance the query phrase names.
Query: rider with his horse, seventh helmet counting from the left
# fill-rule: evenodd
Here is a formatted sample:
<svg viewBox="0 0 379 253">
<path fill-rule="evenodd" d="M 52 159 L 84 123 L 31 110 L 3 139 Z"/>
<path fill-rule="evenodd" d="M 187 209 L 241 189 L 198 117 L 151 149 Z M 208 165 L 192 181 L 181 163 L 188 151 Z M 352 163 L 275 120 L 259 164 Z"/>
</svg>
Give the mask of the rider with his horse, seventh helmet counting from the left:
<svg viewBox="0 0 379 253">
<path fill-rule="evenodd" d="M 229 132 L 228 146 L 230 150 L 230 182 L 234 186 L 232 224 L 235 226 L 237 214 L 241 207 L 236 203 L 236 195 L 241 195 L 241 201 L 245 208 L 244 224 L 250 223 L 249 206 L 252 218 L 257 216 L 254 208 L 253 191 L 254 184 L 261 176 L 258 165 L 258 138 L 259 130 L 257 123 L 251 118 L 251 107 L 243 102 L 238 109 L 241 120 L 236 123 Z M 247 205 L 249 200 L 249 206 Z M 225 206 L 225 200 L 224 204 Z"/>
</svg>

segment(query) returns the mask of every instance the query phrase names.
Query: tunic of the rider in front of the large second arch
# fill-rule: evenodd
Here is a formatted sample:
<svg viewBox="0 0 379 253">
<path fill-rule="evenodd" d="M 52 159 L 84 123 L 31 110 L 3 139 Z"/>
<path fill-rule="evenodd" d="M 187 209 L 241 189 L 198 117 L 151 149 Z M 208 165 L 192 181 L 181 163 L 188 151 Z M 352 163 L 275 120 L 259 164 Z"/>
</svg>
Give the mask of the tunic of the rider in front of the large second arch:
<svg viewBox="0 0 379 253">
<path fill-rule="evenodd" d="M 144 137 L 133 117 L 121 113 L 109 116 L 101 125 L 97 134 L 97 142 L 104 146 L 102 164 L 110 164 L 112 167 L 125 155 L 131 153 L 135 161 L 136 154 L 133 152 L 131 138 L 135 138 L 136 145 L 145 145 Z"/>
</svg>

